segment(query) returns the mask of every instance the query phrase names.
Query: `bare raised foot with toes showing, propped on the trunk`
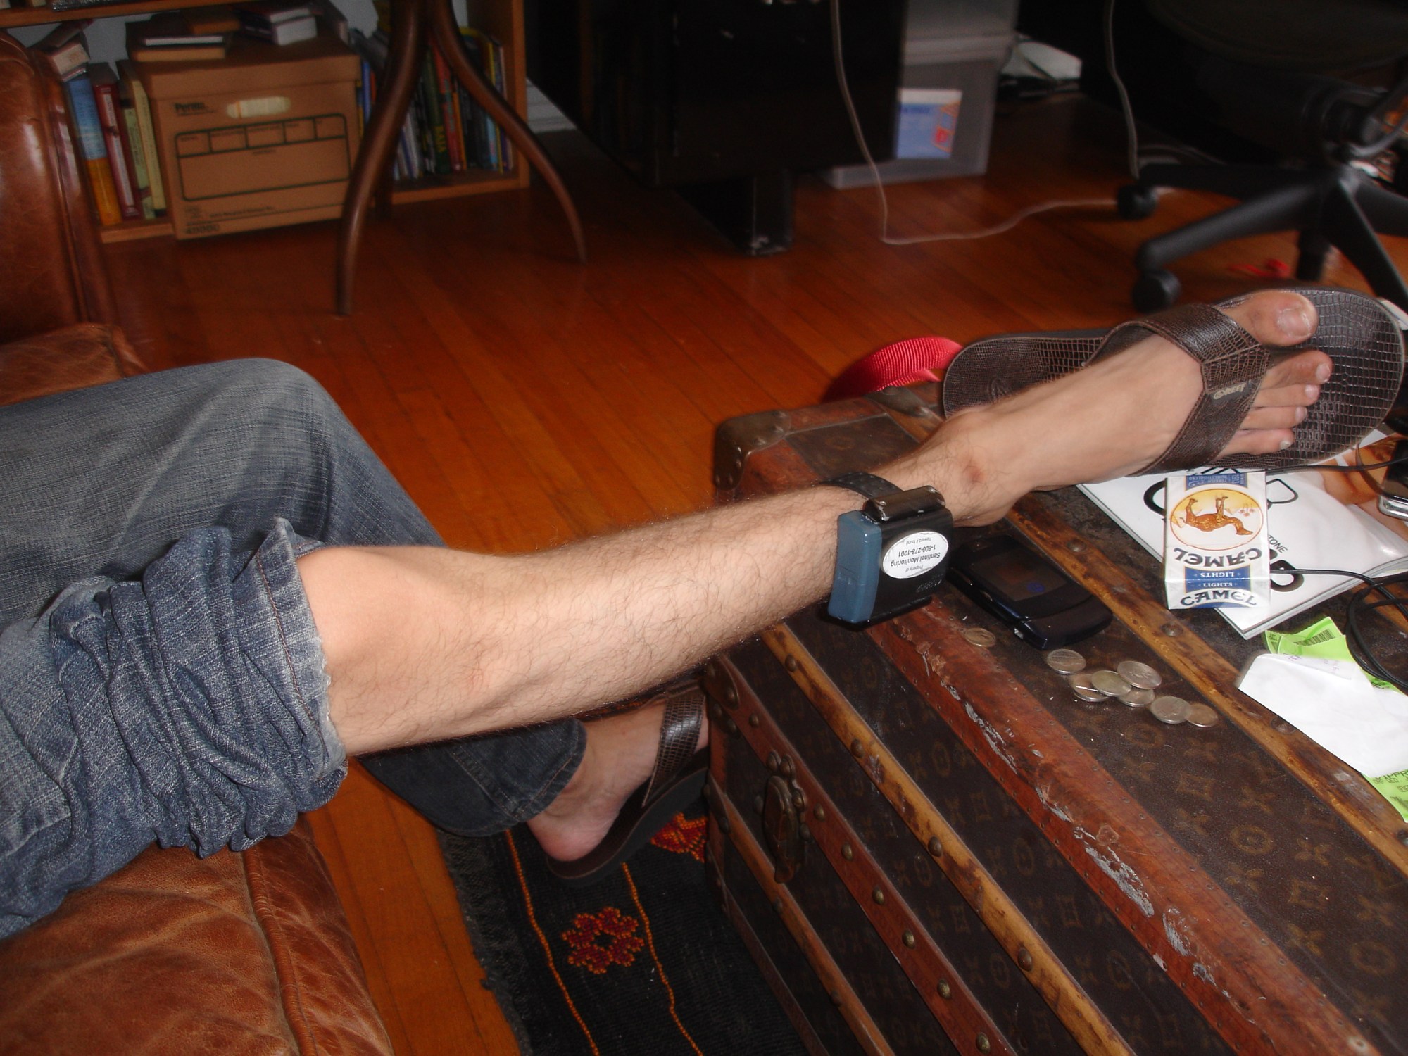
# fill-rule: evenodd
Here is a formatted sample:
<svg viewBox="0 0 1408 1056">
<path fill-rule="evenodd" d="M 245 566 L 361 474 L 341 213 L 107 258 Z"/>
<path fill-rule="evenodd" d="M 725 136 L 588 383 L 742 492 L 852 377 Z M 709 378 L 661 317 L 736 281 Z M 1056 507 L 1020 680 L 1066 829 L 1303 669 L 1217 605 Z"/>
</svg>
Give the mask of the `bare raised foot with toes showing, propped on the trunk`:
<svg viewBox="0 0 1408 1056">
<path fill-rule="evenodd" d="M 1295 345 L 1315 332 L 1315 307 L 1288 291 L 1259 293 L 1228 314 L 1264 345 Z M 1316 351 L 1276 363 L 1221 453 L 1288 448 L 1331 367 L 1331 358 Z M 1193 358 L 1150 337 L 1066 377 L 953 415 L 934 444 L 894 463 L 894 472 L 922 482 L 924 465 L 936 453 L 955 459 L 974 490 L 972 508 L 955 510 L 955 517 L 987 524 L 1026 491 L 1143 469 L 1173 442 L 1201 390 Z"/>
</svg>

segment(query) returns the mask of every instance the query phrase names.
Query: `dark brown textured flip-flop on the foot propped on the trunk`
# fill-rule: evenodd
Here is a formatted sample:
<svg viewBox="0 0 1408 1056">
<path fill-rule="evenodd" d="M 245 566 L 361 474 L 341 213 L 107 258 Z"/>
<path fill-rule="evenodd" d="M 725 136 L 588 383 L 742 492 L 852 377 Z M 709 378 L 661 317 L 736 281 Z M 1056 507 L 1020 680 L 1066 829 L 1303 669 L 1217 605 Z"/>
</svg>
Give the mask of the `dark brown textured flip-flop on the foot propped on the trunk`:
<svg viewBox="0 0 1408 1056">
<path fill-rule="evenodd" d="M 1202 396 L 1171 445 L 1140 473 L 1170 473 L 1217 459 L 1256 401 L 1271 363 L 1318 348 L 1335 363 L 1295 442 L 1270 455 L 1238 455 L 1238 469 L 1286 469 L 1321 462 L 1356 446 L 1394 404 L 1404 373 L 1404 338 L 1394 317 L 1373 297 L 1328 286 L 1298 287 L 1319 313 L 1315 334 L 1300 345 L 1267 348 L 1218 307 L 1186 304 L 1110 331 L 1008 334 L 964 348 L 943 376 L 943 413 L 991 403 L 1028 386 L 1069 375 L 1105 355 L 1159 334 L 1198 360 Z"/>
</svg>

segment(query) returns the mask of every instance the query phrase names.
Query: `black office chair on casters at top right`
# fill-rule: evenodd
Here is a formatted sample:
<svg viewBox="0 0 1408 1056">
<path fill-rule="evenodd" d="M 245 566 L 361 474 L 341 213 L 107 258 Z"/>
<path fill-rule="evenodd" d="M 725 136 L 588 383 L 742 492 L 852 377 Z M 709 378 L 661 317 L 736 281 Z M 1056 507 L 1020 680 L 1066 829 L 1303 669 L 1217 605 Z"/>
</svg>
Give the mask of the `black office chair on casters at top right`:
<svg viewBox="0 0 1408 1056">
<path fill-rule="evenodd" d="M 1267 148 L 1276 162 L 1140 168 L 1118 196 L 1126 220 L 1153 213 L 1160 187 L 1239 203 L 1145 242 L 1135 255 L 1135 307 L 1157 311 L 1177 301 L 1181 286 L 1167 265 L 1180 258 L 1233 238 L 1298 231 L 1297 279 L 1318 282 L 1335 246 L 1377 296 L 1408 310 L 1408 286 L 1376 234 L 1408 235 L 1408 200 L 1359 165 L 1398 141 L 1402 122 L 1391 118 L 1408 97 L 1408 77 L 1388 89 L 1342 79 L 1408 56 L 1408 4 L 1145 0 L 1145 7 L 1166 39 L 1150 49 L 1145 37 L 1145 54 L 1119 55 L 1117 37 L 1117 69 L 1138 63 L 1143 90 L 1177 93 L 1180 106 Z M 1400 68 L 1393 76 L 1401 75 Z M 1402 163 L 1408 169 L 1408 158 Z"/>
</svg>

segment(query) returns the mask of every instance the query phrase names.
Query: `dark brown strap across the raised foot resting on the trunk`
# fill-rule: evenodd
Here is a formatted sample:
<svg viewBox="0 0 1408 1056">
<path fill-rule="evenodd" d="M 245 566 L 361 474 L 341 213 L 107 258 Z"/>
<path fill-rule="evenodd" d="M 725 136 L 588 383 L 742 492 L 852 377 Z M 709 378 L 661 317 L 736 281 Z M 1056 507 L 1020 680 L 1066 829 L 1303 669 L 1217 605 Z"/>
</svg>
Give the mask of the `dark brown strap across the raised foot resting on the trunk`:
<svg viewBox="0 0 1408 1056">
<path fill-rule="evenodd" d="M 1114 355 L 1150 334 L 1167 338 L 1198 362 L 1202 394 L 1164 452 L 1139 473 L 1205 466 L 1236 435 L 1256 403 L 1271 353 L 1252 334 L 1211 304 L 1181 304 L 1110 331 L 1095 359 Z"/>
</svg>

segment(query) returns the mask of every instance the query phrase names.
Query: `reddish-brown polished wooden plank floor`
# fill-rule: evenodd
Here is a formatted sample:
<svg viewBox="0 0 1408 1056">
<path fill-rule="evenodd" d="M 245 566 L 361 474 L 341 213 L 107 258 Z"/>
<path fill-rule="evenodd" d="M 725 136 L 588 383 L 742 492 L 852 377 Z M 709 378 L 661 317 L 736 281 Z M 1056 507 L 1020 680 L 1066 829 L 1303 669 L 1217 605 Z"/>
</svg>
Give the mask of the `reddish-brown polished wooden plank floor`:
<svg viewBox="0 0 1408 1056">
<path fill-rule="evenodd" d="M 331 224 L 111 246 L 127 329 L 155 367 L 298 365 L 451 545 L 521 551 L 708 504 L 718 421 L 815 403 L 884 342 L 1131 315 L 1135 246 L 1217 204 L 1180 193 L 1140 222 L 1088 207 L 891 248 L 876 238 L 873 190 L 805 179 L 794 248 L 749 259 L 576 134 L 549 149 L 586 224 L 587 266 L 535 186 L 373 222 L 351 318 L 331 313 Z M 890 189 L 891 227 L 963 231 L 1111 196 L 1122 163 L 1115 115 L 1076 97 L 1026 104 L 998 117 L 986 177 Z M 1259 284 L 1235 269 L 1267 258 L 1294 262 L 1291 241 L 1225 245 L 1177 272 L 1187 297 L 1221 298 Z M 1343 268 L 1328 279 L 1363 289 Z M 425 822 L 355 772 L 314 825 L 396 1050 L 513 1052 Z"/>
</svg>

